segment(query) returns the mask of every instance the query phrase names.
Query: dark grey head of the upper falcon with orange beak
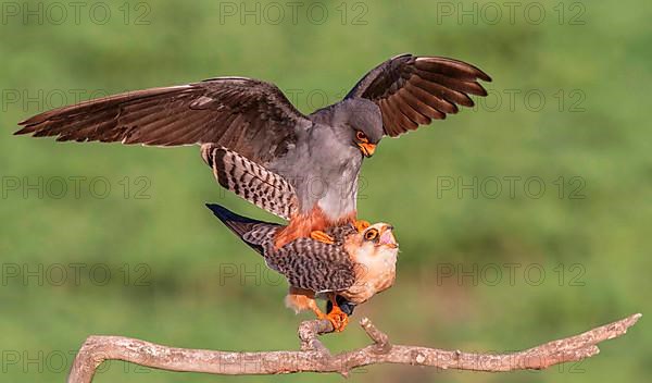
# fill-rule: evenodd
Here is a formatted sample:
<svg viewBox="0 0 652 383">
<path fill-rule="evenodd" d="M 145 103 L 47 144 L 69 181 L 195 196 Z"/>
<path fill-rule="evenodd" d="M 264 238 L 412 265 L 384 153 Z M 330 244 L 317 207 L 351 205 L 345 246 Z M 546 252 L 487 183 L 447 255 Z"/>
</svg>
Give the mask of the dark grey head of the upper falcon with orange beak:
<svg viewBox="0 0 652 383">
<path fill-rule="evenodd" d="M 347 99 L 337 106 L 335 125 L 340 139 L 360 150 L 364 157 L 372 157 L 383 138 L 383 115 L 380 108 L 367 99 Z"/>
</svg>

